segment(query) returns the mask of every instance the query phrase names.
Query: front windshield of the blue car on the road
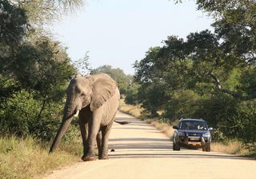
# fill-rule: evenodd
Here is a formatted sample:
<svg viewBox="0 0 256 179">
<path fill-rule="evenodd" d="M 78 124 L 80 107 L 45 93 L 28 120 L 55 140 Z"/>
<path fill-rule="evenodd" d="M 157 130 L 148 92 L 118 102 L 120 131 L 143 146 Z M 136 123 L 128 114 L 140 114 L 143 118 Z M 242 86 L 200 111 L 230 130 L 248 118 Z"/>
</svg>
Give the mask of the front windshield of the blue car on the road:
<svg viewBox="0 0 256 179">
<path fill-rule="evenodd" d="M 204 121 L 182 121 L 180 129 L 206 130 L 206 122 Z"/>
</svg>

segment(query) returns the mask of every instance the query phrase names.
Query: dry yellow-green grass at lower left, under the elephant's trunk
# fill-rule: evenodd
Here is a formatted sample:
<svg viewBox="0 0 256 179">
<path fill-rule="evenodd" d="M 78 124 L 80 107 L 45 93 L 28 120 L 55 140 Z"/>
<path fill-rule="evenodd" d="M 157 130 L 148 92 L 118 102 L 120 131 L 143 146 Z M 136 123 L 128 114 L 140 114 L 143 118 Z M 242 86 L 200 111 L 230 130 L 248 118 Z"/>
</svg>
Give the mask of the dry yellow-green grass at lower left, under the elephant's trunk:
<svg viewBox="0 0 256 179">
<path fill-rule="evenodd" d="M 0 137 L 0 176 L 7 178 L 32 178 L 58 166 L 78 161 L 81 143 L 62 142 L 55 153 L 48 154 L 50 143 L 33 137 Z"/>
</svg>

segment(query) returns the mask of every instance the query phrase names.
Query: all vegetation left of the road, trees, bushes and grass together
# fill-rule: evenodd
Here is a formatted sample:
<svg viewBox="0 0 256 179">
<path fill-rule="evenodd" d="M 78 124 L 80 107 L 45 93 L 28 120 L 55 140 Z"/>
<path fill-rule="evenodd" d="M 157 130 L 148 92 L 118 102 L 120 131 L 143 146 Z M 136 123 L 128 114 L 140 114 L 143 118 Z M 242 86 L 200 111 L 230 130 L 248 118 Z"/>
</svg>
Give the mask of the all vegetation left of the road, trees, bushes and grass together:
<svg viewBox="0 0 256 179">
<path fill-rule="evenodd" d="M 78 70 L 42 28 L 81 2 L 0 0 L 1 179 L 31 178 L 81 157 L 75 121 L 59 152 L 48 154 L 66 85 Z"/>
</svg>

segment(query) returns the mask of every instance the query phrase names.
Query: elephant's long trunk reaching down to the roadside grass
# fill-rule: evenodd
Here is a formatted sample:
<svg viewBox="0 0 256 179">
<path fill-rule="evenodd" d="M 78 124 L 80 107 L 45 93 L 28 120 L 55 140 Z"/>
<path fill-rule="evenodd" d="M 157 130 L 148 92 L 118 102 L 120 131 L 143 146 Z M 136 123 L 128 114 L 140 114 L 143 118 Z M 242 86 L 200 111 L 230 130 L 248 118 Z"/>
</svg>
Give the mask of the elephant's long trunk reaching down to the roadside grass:
<svg viewBox="0 0 256 179">
<path fill-rule="evenodd" d="M 72 121 L 72 117 L 74 115 L 74 109 L 72 107 L 70 107 L 71 103 L 72 102 L 70 102 L 69 100 L 66 101 L 66 105 L 65 105 L 65 108 L 64 108 L 64 115 L 63 115 L 63 119 L 62 119 L 62 124 L 58 129 L 58 133 L 56 134 L 56 136 L 54 138 L 54 142 L 50 147 L 50 152 L 49 153 L 54 152 L 54 149 L 57 148 L 59 142 L 62 140 L 62 137 L 66 133 L 67 128 L 70 126 L 70 123 Z"/>
</svg>

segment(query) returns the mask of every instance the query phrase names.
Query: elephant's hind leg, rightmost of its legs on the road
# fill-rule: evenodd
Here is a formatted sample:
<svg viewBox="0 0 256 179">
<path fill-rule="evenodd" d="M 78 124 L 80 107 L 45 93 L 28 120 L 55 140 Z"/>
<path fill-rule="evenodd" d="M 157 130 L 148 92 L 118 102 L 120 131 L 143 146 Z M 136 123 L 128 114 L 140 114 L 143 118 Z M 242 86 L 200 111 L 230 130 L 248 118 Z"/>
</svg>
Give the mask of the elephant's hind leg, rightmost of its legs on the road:
<svg viewBox="0 0 256 179">
<path fill-rule="evenodd" d="M 99 157 L 99 159 L 101 160 L 106 160 L 108 159 L 108 141 L 109 141 L 109 137 L 110 137 L 110 129 L 111 126 L 113 125 L 113 121 L 111 121 L 111 123 L 109 125 L 107 125 L 106 127 L 104 127 L 102 129 L 102 154 L 101 157 Z"/>
</svg>

